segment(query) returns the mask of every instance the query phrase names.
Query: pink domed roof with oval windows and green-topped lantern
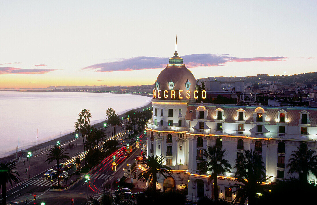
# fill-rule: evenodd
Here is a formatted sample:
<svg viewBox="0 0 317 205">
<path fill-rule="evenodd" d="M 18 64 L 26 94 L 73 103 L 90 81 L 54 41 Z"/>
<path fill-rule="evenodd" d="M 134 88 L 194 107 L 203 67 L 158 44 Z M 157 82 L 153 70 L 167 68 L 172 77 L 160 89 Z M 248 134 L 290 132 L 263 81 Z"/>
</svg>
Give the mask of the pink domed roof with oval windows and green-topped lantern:
<svg viewBox="0 0 317 205">
<path fill-rule="evenodd" d="M 194 91 L 196 80 L 190 70 L 186 68 L 183 59 L 175 50 L 166 68 L 161 71 L 155 82 L 156 90 L 190 90 Z"/>
</svg>

